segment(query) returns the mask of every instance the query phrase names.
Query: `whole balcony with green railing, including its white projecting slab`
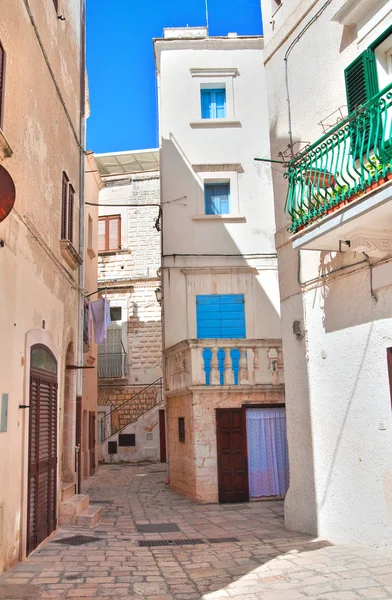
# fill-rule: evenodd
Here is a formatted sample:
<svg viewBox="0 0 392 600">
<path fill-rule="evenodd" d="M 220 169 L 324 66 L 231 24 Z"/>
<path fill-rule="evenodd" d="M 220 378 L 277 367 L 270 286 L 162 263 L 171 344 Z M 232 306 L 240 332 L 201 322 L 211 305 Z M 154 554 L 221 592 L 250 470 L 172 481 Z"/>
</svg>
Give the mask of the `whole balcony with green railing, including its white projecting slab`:
<svg viewBox="0 0 392 600">
<path fill-rule="evenodd" d="M 287 177 L 294 248 L 388 254 L 392 84 L 290 161 Z"/>
</svg>

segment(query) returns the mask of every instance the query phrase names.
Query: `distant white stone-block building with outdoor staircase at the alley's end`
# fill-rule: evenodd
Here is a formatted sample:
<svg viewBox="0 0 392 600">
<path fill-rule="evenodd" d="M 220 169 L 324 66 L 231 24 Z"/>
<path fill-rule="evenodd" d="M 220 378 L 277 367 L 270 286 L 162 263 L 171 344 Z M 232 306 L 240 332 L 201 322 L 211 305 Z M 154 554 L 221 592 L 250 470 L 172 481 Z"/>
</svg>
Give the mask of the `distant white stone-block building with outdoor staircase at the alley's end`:
<svg viewBox="0 0 392 600">
<path fill-rule="evenodd" d="M 98 347 L 101 459 L 165 462 L 162 404 L 159 151 L 96 155 L 98 288 L 112 324 Z M 95 296 L 92 299 L 95 299 Z"/>
</svg>

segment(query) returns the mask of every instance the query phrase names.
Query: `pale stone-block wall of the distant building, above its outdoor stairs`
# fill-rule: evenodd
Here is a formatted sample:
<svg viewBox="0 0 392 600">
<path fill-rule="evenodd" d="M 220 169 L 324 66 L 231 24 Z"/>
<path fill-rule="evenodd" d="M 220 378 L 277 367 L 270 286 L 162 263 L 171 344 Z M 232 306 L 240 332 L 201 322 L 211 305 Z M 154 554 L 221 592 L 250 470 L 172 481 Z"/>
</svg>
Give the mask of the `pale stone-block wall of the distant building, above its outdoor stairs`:
<svg viewBox="0 0 392 600">
<path fill-rule="evenodd" d="M 161 235 L 154 227 L 159 216 L 159 173 L 106 178 L 100 193 L 100 216 L 120 214 L 121 250 L 99 255 L 99 286 L 108 287 L 113 307 L 121 306 L 126 329 L 128 384 L 152 383 L 162 376 L 160 287 Z M 136 204 L 124 208 L 110 204 Z M 100 382 L 102 383 L 102 381 Z"/>
</svg>

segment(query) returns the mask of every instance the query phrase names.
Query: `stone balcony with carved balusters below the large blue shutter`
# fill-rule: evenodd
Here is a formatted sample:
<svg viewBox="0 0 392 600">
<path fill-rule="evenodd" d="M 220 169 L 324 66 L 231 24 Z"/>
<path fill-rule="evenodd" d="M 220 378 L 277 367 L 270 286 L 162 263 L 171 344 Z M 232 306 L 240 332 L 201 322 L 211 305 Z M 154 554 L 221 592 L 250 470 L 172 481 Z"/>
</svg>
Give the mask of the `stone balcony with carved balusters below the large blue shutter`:
<svg viewBox="0 0 392 600">
<path fill-rule="evenodd" d="M 166 358 L 169 393 L 283 385 L 279 340 L 185 340 L 166 350 Z"/>
</svg>

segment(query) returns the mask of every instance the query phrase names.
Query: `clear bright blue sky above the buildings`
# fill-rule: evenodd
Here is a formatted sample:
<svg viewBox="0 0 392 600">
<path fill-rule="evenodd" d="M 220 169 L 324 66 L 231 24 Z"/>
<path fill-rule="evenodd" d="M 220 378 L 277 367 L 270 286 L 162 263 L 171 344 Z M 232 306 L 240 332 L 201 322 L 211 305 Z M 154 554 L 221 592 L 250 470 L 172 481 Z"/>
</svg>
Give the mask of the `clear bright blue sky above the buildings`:
<svg viewBox="0 0 392 600">
<path fill-rule="evenodd" d="M 261 33 L 259 0 L 208 0 L 208 8 L 210 35 Z M 152 38 L 205 19 L 205 0 L 87 0 L 89 150 L 158 145 Z"/>
</svg>

